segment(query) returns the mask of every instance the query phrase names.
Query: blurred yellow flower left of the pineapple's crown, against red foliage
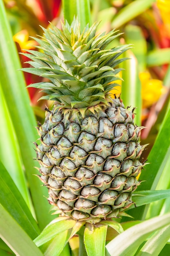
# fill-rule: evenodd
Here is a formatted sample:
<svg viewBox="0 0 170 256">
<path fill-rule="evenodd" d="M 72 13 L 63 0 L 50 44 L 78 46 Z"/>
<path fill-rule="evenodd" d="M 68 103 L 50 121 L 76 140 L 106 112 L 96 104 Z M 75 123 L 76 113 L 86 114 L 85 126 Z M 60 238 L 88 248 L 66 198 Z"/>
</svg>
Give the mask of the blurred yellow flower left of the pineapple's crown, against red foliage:
<svg viewBox="0 0 170 256">
<path fill-rule="evenodd" d="M 38 45 L 38 43 L 35 40 L 29 40 L 29 34 L 26 29 L 19 31 L 13 36 L 14 42 L 18 43 L 20 45 L 20 48 L 22 52 L 25 52 L 24 50 L 28 49 L 34 49 L 35 45 Z"/>
</svg>

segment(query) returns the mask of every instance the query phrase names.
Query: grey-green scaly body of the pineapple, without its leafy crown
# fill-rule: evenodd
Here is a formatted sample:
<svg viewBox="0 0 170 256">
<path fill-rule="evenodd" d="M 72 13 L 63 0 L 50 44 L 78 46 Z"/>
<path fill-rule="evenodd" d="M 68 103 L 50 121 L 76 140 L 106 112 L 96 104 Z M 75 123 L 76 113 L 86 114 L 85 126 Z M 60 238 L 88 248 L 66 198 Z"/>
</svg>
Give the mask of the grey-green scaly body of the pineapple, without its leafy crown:
<svg viewBox="0 0 170 256">
<path fill-rule="evenodd" d="M 62 215 L 110 219 L 134 203 L 132 192 L 143 168 L 142 127 L 134 126 L 134 113 L 121 99 L 94 114 L 86 110 L 84 117 L 74 111 L 64 115 L 56 105 L 37 129 L 40 179 L 49 190 L 49 203 Z"/>
</svg>

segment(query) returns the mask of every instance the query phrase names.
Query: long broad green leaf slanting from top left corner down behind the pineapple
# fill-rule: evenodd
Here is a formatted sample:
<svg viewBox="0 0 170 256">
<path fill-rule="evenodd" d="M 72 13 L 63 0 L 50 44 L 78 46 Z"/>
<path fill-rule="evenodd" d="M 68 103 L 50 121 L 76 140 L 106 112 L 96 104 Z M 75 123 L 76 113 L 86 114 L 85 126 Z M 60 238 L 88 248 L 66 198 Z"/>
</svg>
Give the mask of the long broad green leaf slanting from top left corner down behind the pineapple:
<svg viewBox="0 0 170 256">
<path fill-rule="evenodd" d="M 41 182 L 33 174 L 36 156 L 31 142 L 36 141 L 36 119 L 30 107 L 29 96 L 25 89 L 25 81 L 16 46 L 12 39 L 11 30 L 7 20 L 3 1 L 0 0 L 0 83 L 4 92 L 13 126 L 18 136 L 22 162 L 27 174 L 31 197 L 35 207 L 36 218 L 41 229 L 49 223 L 49 205 L 43 195 L 47 190 L 40 187 Z"/>
</svg>

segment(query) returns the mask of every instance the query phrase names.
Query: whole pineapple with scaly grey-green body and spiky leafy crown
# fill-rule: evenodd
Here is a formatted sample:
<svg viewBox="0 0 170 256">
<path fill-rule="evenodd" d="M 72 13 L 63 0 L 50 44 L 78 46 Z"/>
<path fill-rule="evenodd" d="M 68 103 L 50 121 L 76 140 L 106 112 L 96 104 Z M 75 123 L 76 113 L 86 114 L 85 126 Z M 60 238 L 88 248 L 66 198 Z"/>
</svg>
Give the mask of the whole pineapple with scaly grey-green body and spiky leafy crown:
<svg viewBox="0 0 170 256">
<path fill-rule="evenodd" d="M 44 77 L 29 86 L 55 101 L 52 110 L 46 108 L 44 124 L 38 123 L 40 144 L 35 143 L 49 203 L 63 216 L 92 223 L 121 216 L 134 203 L 144 148 L 133 110 L 110 95 L 125 60 L 118 57 L 130 45 L 108 49 L 120 34 L 96 35 L 97 26 L 81 33 L 74 19 L 62 30 L 43 28 L 44 37 L 36 38 L 41 51 L 24 54 L 33 67 L 22 69 Z"/>
</svg>

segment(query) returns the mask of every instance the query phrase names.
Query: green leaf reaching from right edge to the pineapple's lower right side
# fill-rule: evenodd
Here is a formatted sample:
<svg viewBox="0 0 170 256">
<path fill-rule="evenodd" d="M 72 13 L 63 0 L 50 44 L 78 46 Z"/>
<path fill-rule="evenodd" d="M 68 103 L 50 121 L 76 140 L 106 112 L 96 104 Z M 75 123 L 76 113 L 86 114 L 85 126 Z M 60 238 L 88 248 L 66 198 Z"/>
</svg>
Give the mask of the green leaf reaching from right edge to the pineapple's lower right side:
<svg viewBox="0 0 170 256">
<path fill-rule="evenodd" d="M 170 189 L 167 190 L 148 190 L 148 191 L 139 191 L 134 192 L 132 194 L 132 200 L 135 202 L 136 207 L 150 204 L 151 202 L 162 200 L 165 198 L 170 197 Z M 131 206 L 131 208 L 134 208 L 134 204 Z"/>
</svg>

